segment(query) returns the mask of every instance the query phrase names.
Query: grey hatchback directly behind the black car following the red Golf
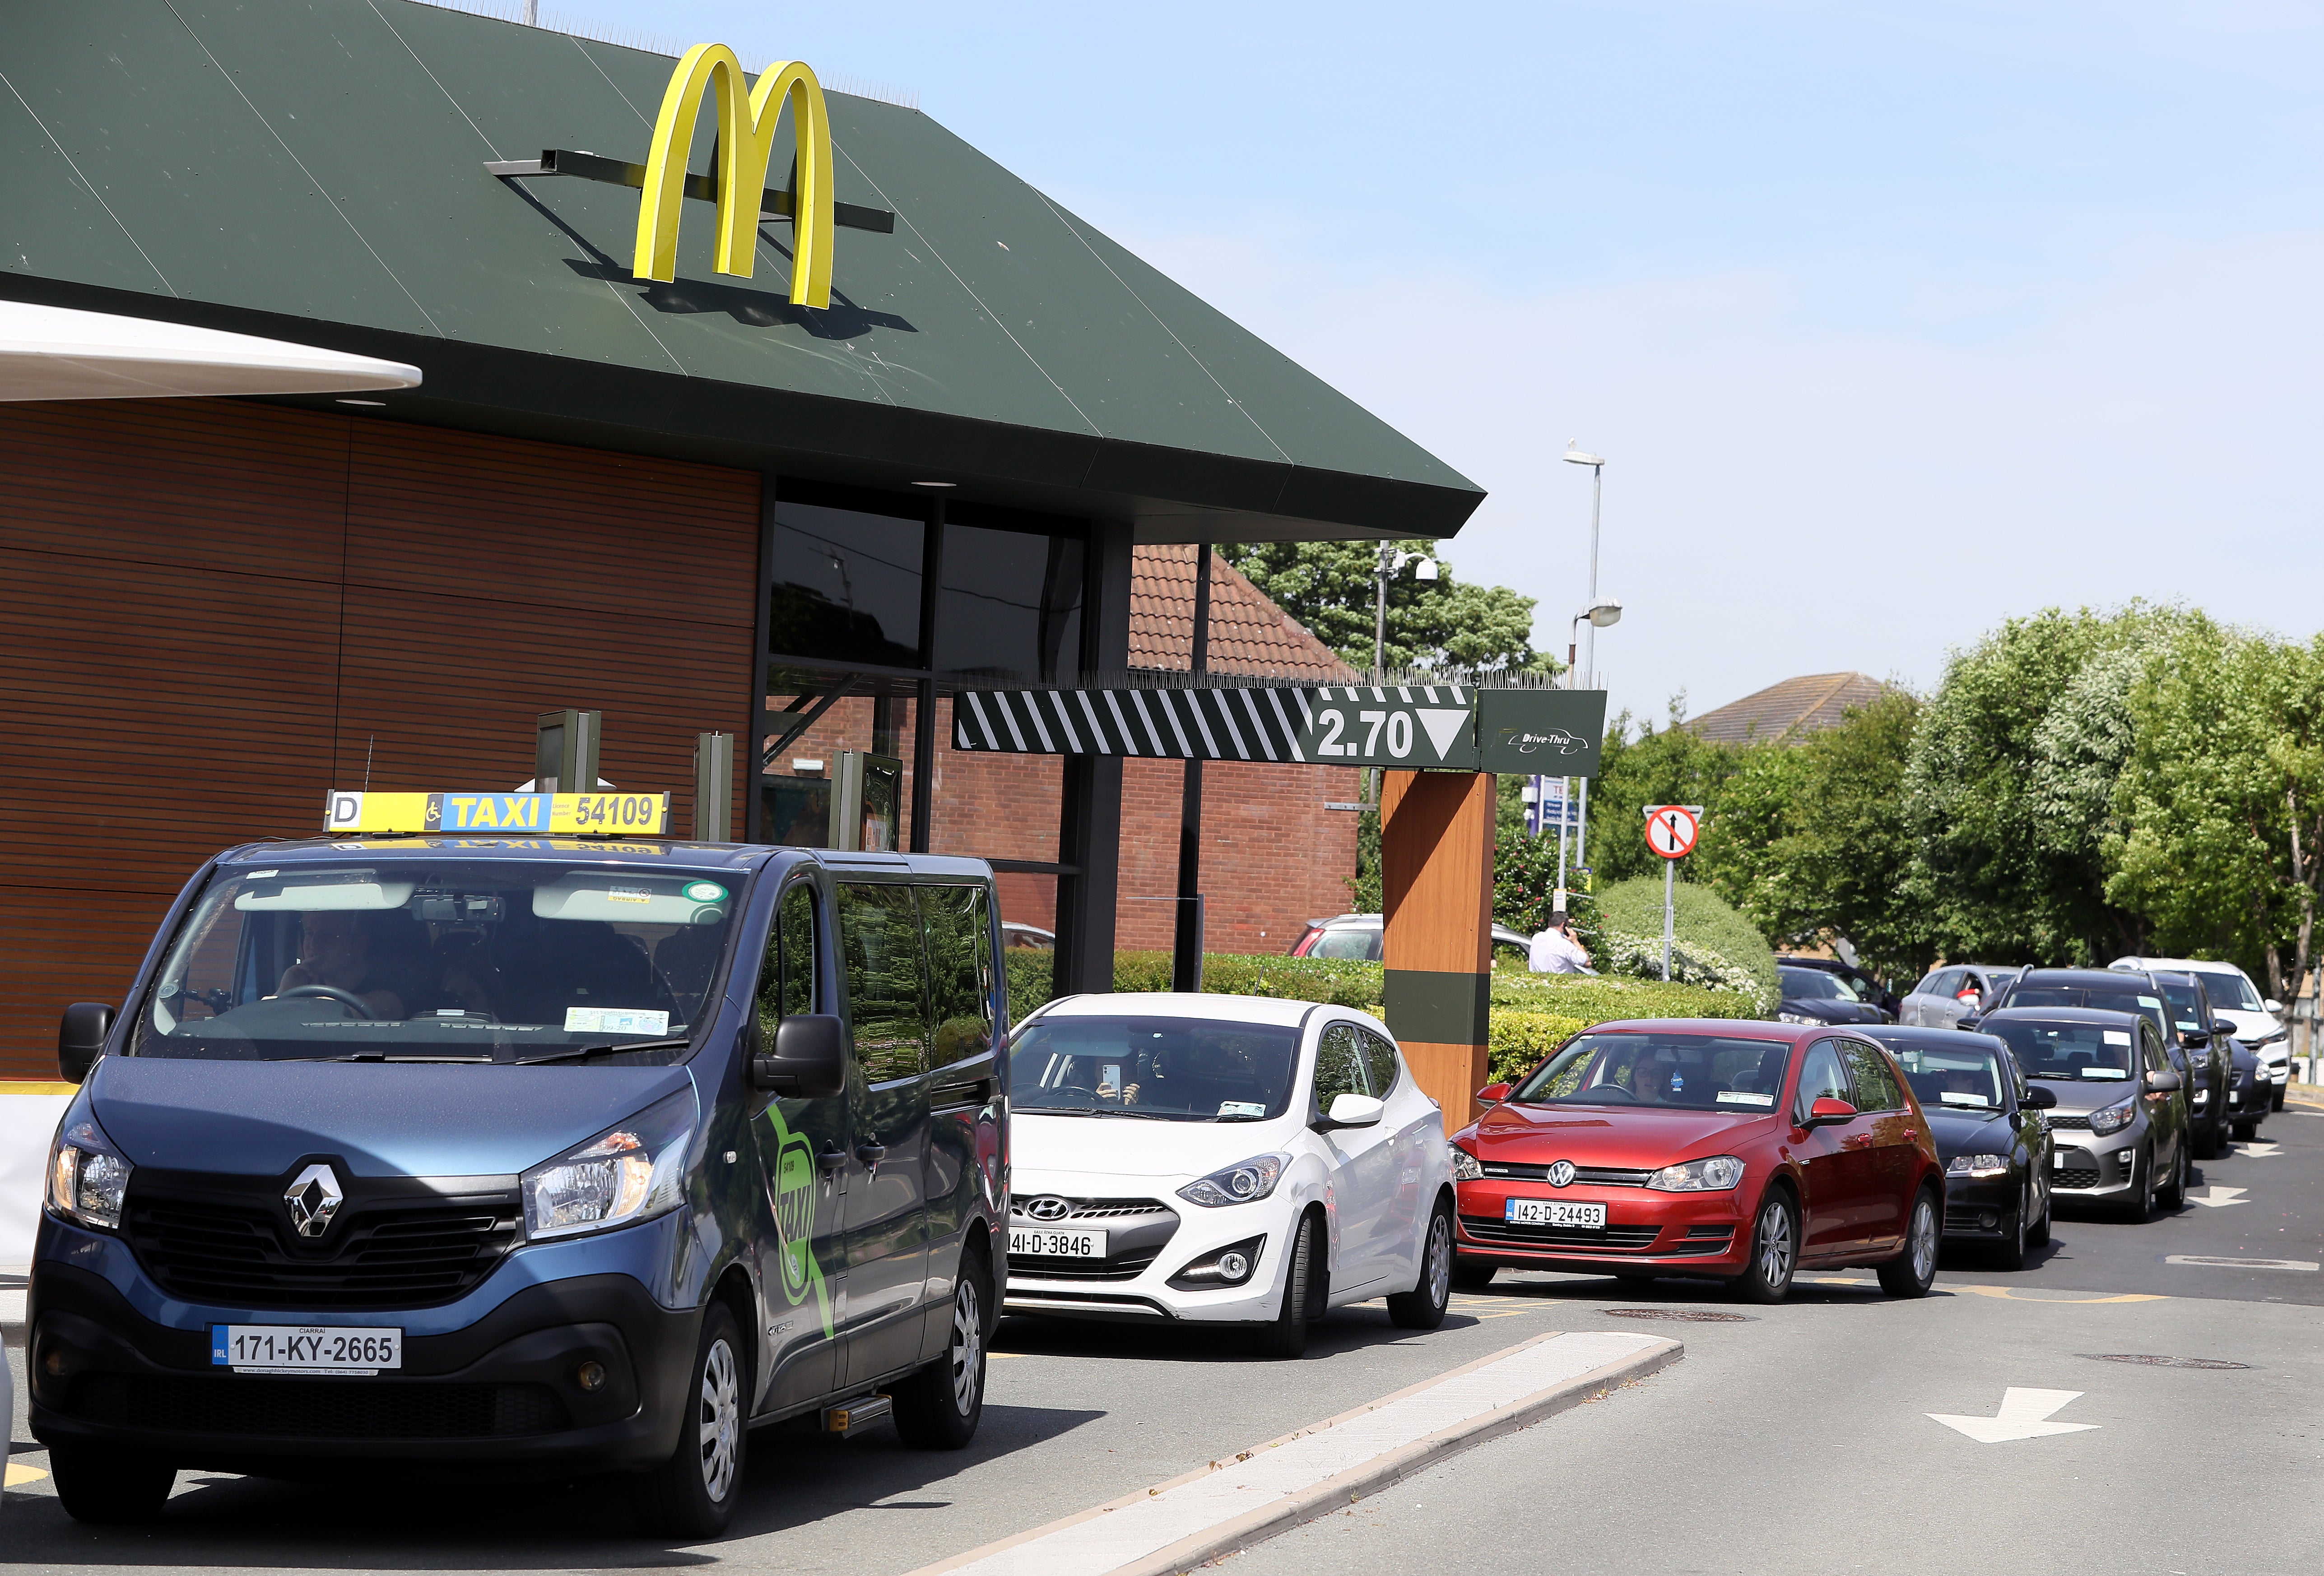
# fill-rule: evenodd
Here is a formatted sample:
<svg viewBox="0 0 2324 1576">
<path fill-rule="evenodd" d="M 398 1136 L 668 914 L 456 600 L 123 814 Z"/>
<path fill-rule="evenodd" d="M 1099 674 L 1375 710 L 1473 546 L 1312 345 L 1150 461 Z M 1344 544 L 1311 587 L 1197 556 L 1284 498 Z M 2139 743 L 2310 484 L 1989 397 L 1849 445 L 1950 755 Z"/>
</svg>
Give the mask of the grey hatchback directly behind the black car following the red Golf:
<svg viewBox="0 0 2324 1576">
<path fill-rule="evenodd" d="M 2154 1020 L 2094 1007 L 2003 1007 L 1985 1032 L 2057 1095 L 2050 1190 L 2117 1204 L 2133 1220 L 2187 1202 L 2187 1095 Z"/>
</svg>

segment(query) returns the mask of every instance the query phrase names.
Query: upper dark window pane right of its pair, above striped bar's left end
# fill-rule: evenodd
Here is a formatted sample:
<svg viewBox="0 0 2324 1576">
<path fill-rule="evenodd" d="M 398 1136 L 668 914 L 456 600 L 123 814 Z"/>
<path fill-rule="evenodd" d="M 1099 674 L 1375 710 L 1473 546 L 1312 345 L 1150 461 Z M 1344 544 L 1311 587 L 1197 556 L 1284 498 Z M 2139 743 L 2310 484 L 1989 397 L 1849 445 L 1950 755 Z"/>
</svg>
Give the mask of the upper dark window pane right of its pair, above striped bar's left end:
<svg viewBox="0 0 2324 1576">
<path fill-rule="evenodd" d="M 1081 542 L 944 528 L 937 667 L 1071 679 L 1081 651 Z"/>
</svg>

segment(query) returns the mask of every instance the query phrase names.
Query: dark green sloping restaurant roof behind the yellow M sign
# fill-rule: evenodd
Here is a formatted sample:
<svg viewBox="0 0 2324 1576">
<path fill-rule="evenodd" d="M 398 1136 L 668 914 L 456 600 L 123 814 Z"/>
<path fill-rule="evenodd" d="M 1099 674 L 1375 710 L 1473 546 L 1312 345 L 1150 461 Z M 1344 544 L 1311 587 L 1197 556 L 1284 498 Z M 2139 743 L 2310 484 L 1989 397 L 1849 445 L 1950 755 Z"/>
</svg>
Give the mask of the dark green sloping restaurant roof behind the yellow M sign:
<svg viewBox="0 0 2324 1576">
<path fill-rule="evenodd" d="M 1443 537 L 1483 500 L 911 109 L 827 95 L 839 198 L 897 228 L 841 230 L 811 311 L 788 225 L 730 279 L 688 202 L 679 279 L 639 284 L 634 193 L 483 170 L 644 158 L 667 56 L 411 0 L 9 9 L 7 295 L 395 356 L 428 377 L 390 400 L 409 418 L 890 486 L 934 467 L 1141 539 Z"/>
</svg>

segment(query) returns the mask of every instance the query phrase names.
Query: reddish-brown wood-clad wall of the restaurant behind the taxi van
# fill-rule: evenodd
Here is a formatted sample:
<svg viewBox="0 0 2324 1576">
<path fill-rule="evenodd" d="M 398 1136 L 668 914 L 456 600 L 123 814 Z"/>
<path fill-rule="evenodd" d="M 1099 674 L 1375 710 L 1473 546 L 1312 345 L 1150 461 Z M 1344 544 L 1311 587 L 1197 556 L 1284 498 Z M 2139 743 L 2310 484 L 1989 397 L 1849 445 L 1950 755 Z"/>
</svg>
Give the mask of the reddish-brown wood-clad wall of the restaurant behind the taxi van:
<svg viewBox="0 0 2324 1576">
<path fill-rule="evenodd" d="M 0 407 L 0 1076 L 200 862 L 330 788 L 514 788 L 532 718 L 688 825 L 748 697 L 758 477 L 225 400 Z M 739 804 L 737 804 L 739 825 Z"/>
</svg>

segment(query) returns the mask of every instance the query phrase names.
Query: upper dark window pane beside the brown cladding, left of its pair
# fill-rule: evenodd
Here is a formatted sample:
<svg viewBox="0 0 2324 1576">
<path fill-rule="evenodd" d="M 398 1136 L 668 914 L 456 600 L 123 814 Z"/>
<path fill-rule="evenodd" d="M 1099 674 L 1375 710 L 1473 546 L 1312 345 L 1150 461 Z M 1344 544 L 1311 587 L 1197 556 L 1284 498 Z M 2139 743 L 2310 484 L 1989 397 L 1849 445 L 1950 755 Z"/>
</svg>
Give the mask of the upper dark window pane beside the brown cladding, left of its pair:
<svg viewBox="0 0 2324 1576">
<path fill-rule="evenodd" d="M 925 532 L 918 518 L 779 502 L 767 649 L 918 667 Z"/>
</svg>

